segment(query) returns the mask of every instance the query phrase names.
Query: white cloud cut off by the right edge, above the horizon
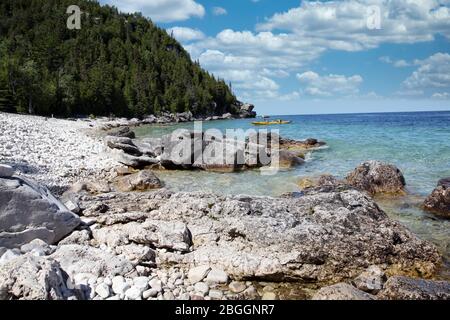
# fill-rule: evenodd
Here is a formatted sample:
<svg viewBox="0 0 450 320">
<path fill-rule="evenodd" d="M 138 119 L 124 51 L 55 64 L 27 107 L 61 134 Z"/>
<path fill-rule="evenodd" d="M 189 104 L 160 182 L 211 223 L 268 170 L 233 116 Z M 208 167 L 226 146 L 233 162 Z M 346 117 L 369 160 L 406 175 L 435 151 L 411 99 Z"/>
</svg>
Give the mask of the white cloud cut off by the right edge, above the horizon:
<svg viewBox="0 0 450 320">
<path fill-rule="evenodd" d="M 436 97 L 444 97 L 450 92 L 450 54 L 436 53 L 416 63 L 419 65 L 417 70 L 403 82 L 406 90 L 429 90 Z"/>
</svg>

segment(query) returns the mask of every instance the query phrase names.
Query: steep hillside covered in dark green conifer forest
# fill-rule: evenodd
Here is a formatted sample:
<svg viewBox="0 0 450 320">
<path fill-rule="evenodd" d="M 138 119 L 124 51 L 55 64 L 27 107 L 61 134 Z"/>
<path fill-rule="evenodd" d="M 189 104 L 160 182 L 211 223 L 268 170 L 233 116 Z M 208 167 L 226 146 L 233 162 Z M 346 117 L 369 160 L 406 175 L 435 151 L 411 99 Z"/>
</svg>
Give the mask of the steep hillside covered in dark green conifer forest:
<svg viewBox="0 0 450 320">
<path fill-rule="evenodd" d="M 69 30 L 67 8 L 82 9 Z M 236 113 L 230 87 L 139 14 L 87 0 L 0 1 L 0 111 L 143 116 Z"/>
</svg>

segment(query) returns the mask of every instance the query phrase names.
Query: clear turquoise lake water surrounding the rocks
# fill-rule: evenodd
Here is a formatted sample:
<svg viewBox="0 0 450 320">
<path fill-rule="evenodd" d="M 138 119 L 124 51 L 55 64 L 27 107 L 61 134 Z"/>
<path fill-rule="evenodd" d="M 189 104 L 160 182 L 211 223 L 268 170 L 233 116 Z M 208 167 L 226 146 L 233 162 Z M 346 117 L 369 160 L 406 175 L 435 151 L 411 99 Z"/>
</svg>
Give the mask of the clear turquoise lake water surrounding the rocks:
<svg viewBox="0 0 450 320">
<path fill-rule="evenodd" d="M 307 163 L 275 176 L 258 170 L 242 173 L 160 172 L 168 188 L 178 191 L 209 191 L 226 194 L 278 196 L 298 191 L 301 177 L 324 173 L 344 177 L 365 160 L 383 160 L 404 173 L 410 196 L 378 199 L 380 205 L 422 238 L 433 241 L 450 258 L 450 221 L 435 218 L 419 208 L 440 178 L 450 176 L 450 112 L 304 115 L 273 117 L 292 124 L 271 126 L 283 137 L 323 140 L 328 148 L 308 155 Z M 254 120 L 213 121 L 203 128 L 254 128 Z M 161 136 L 193 124 L 147 126 L 136 130 L 140 137 Z M 446 268 L 448 270 L 448 268 Z M 445 272 L 447 273 L 447 272 Z"/>
</svg>

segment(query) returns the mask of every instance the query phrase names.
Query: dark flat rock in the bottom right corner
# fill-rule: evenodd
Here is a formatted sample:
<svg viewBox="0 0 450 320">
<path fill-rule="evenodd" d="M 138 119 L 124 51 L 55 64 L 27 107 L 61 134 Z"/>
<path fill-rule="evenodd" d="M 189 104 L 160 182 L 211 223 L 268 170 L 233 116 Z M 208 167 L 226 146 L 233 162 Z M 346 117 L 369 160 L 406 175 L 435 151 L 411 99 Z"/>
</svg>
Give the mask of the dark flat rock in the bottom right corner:
<svg viewBox="0 0 450 320">
<path fill-rule="evenodd" d="M 450 282 L 395 276 L 386 281 L 379 296 L 388 300 L 449 300 Z"/>
</svg>

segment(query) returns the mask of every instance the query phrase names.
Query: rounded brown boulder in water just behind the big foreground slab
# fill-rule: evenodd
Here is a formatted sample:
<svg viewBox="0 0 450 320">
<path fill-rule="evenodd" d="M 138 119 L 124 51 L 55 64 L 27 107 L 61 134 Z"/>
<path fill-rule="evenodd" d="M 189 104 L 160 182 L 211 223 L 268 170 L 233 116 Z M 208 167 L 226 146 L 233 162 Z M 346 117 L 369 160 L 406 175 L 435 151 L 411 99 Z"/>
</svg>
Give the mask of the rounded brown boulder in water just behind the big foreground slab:
<svg viewBox="0 0 450 320">
<path fill-rule="evenodd" d="M 351 186 L 372 195 L 405 192 L 405 178 L 400 169 L 381 161 L 367 161 L 360 164 L 347 175 L 346 180 Z"/>
</svg>

